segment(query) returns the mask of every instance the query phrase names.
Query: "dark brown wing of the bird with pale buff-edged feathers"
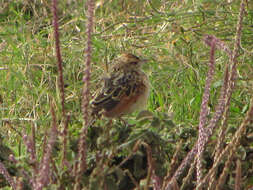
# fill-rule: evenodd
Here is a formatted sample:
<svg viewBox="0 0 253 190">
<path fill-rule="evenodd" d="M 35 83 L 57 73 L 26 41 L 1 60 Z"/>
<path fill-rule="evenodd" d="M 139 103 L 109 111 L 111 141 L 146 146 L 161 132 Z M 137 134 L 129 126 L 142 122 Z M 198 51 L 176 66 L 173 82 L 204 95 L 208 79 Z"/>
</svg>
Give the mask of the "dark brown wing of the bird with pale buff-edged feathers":
<svg viewBox="0 0 253 190">
<path fill-rule="evenodd" d="M 93 114 L 101 110 L 110 111 L 118 105 L 122 97 L 131 97 L 136 93 L 138 74 L 117 72 L 103 79 L 103 87 L 91 102 Z"/>
</svg>

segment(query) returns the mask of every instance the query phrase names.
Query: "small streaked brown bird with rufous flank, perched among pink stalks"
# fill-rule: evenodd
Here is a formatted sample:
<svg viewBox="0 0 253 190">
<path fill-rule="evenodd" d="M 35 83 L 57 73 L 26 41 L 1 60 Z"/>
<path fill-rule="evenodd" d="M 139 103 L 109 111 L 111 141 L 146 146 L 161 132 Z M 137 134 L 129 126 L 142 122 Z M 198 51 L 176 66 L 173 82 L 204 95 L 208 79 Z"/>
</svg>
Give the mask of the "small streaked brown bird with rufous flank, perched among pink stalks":
<svg viewBox="0 0 253 190">
<path fill-rule="evenodd" d="M 142 70 L 146 59 L 123 53 L 109 65 L 102 86 L 91 101 L 91 115 L 121 118 L 147 105 L 150 82 Z"/>
</svg>

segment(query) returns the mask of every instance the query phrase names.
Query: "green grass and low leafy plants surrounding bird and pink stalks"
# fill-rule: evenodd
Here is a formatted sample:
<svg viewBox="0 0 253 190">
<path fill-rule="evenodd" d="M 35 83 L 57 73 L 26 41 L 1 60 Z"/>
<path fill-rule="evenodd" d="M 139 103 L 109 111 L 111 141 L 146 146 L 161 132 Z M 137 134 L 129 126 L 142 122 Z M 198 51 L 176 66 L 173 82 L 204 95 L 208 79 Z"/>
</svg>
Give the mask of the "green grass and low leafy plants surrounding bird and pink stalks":
<svg viewBox="0 0 253 190">
<path fill-rule="evenodd" d="M 86 189 L 165 189 L 165 182 L 167 186 L 167 182 L 173 181 L 170 179 L 176 168 L 198 141 L 200 108 L 211 56 L 204 36 L 216 36 L 232 51 L 240 2 L 95 1 L 91 94 L 99 88 L 106 65 L 122 52 L 149 60 L 143 69 L 150 78 L 152 90 L 148 111 L 126 116 L 127 125 L 101 119 L 88 128 L 85 136 L 87 167 L 81 179 L 76 178 L 74 166 L 80 158 L 77 144 L 84 126 L 81 99 L 82 79 L 87 69 L 87 54 L 84 53 L 87 2 L 58 2 L 65 117 L 62 115 L 61 85 L 57 79 L 59 69 L 51 1 L 0 0 L 0 5 L 0 161 L 13 176 L 16 188 L 31 189 L 47 174 L 44 186 L 48 189 L 73 189 L 74 186 L 77 189 L 81 186 Z M 227 121 L 223 129 L 217 127 L 205 146 L 201 159 L 203 174 L 213 166 L 219 139 L 222 139 L 220 149 L 223 150 L 251 108 L 251 1 L 245 1 L 245 10 L 229 114 L 225 116 Z M 221 48 L 216 49 L 208 121 L 221 94 L 226 65 L 233 63 L 229 59 L 229 54 Z M 63 131 L 66 123 L 67 134 Z M 226 159 L 219 161 L 213 177 L 214 184 L 222 183 L 222 170 L 227 169 L 227 176 L 220 186 L 223 189 L 234 189 L 238 184 L 241 189 L 253 186 L 252 121 L 246 126 L 236 151 L 226 156 L 231 164 L 224 167 Z M 223 133 L 224 138 L 219 133 Z M 56 139 L 52 138 L 54 135 Z M 67 139 L 66 155 L 62 147 L 64 139 Z M 51 154 L 49 145 L 53 144 L 56 145 Z M 35 149 L 36 153 L 33 152 Z M 45 163 L 45 155 L 49 156 L 47 161 L 51 169 L 41 174 L 39 168 Z M 173 188 L 194 189 L 197 180 L 194 168 L 182 173 L 177 182 L 173 181 Z M 192 180 L 183 180 L 186 176 Z M 5 178 L 0 175 L 0 185 L 9 189 Z"/>
</svg>

